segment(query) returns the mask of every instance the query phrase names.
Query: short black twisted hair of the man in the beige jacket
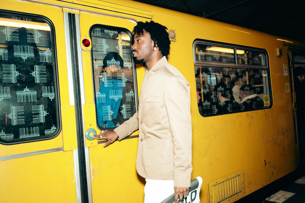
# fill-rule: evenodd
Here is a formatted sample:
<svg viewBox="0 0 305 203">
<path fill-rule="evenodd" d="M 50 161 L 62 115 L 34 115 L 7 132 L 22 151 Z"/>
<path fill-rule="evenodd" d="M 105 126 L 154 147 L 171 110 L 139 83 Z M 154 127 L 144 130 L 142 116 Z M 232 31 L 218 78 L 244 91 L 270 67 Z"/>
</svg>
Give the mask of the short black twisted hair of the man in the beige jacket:
<svg viewBox="0 0 305 203">
<path fill-rule="evenodd" d="M 154 41 L 154 46 L 157 45 L 162 55 L 167 57 L 170 53 L 170 39 L 166 31 L 167 27 L 153 21 L 138 22 L 132 32 L 132 38 L 135 37 L 135 34 L 143 34 L 143 30 L 150 34 L 150 38 Z"/>
</svg>

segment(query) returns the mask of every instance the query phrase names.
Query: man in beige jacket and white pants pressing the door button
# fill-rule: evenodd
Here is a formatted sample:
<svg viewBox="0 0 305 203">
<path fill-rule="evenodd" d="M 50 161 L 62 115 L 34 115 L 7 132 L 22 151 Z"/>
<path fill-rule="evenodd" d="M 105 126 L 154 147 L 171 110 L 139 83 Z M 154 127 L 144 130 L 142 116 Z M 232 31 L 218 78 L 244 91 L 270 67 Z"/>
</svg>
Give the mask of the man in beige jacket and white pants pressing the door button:
<svg viewBox="0 0 305 203">
<path fill-rule="evenodd" d="M 190 89 L 182 74 L 167 62 L 170 40 L 166 29 L 153 21 L 135 26 L 133 55 L 147 68 L 139 110 L 114 131 L 94 136 L 107 139 L 106 147 L 139 129 L 136 167 L 146 180 L 145 203 L 161 202 L 173 193 L 175 202 L 182 202 L 191 181 Z"/>
</svg>

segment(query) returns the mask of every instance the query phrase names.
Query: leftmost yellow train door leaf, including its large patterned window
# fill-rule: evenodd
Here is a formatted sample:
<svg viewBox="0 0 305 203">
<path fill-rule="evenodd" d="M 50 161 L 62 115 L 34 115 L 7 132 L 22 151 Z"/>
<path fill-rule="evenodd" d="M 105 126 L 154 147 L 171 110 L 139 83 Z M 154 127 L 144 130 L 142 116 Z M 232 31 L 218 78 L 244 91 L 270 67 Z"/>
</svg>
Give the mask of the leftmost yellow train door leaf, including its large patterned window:
<svg viewBox="0 0 305 203">
<path fill-rule="evenodd" d="M 6 0 L 0 8 L 0 202 L 77 202 L 63 10 Z"/>
</svg>

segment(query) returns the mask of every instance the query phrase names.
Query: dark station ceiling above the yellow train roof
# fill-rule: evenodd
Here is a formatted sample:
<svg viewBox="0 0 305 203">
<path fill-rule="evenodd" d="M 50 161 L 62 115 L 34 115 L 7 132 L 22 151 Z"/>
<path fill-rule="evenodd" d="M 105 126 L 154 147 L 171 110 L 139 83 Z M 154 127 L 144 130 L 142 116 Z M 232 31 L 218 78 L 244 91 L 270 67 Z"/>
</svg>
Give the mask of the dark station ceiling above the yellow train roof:
<svg viewBox="0 0 305 203">
<path fill-rule="evenodd" d="M 305 0 L 135 0 L 305 42 Z"/>
</svg>

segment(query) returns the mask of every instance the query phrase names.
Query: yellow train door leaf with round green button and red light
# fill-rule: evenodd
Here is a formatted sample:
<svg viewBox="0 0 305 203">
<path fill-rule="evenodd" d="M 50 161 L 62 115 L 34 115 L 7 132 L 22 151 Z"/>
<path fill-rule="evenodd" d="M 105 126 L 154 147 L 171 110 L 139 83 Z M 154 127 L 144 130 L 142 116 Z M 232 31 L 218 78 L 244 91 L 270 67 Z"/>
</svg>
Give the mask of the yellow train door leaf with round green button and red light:
<svg viewBox="0 0 305 203">
<path fill-rule="evenodd" d="M 137 82 L 142 83 L 144 68 L 136 69 L 132 59 L 130 30 L 136 21 L 82 11 L 74 17 L 89 202 L 130 201 L 128 197 L 141 202 L 144 179 L 135 169 L 138 132 L 107 148 L 106 141 L 90 137 L 120 125 L 137 110 Z"/>
</svg>

